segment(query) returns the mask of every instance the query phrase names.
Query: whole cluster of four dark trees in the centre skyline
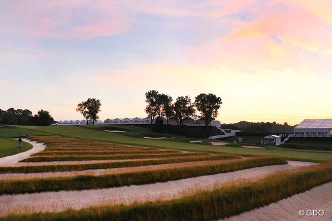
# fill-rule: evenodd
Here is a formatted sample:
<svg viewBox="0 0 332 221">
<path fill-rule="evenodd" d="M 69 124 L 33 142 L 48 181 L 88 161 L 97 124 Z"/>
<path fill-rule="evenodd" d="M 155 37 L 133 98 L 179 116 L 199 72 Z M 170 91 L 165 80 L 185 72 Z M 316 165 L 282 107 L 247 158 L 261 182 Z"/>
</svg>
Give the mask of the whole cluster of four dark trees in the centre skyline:
<svg viewBox="0 0 332 221">
<path fill-rule="evenodd" d="M 221 98 L 211 93 L 197 95 L 194 102 L 191 102 L 188 96 L 179 96 L 173 102 L 171 96 L 159 93 L 156 90 L 146 92 L 145 98 L 147 103 L 145 112 L 151 118 L 151 127 L 155 118 L 164 117 L 167 124 L 170 118 L 174 118 L 180 129 L 186 118 L 200 118 L 205 121 L 205 138 L 207 138 L 209 123 L 218 116 L 218 109 L 222 104 Z M 196 114 L 196 111 L 198 111 L 198 114 Z"/>
</svg>

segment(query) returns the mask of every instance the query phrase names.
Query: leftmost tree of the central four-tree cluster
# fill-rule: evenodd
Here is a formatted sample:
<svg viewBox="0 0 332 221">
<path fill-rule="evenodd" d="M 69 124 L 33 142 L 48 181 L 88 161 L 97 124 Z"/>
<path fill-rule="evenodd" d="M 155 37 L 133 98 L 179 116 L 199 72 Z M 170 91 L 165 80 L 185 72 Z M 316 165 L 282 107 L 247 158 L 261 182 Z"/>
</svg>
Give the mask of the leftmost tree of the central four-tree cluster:
<svg viewBox="0 0 332 221">
<path fill-rule="evenodd" d="M 151 118 L 151 129 L 152 122 L 157 114 L 160 114 L 160 102 L 159 102 L 159 92 L 151 90 L 145 93 L 145 102 L 148 103 L 144 109 L 145 113 L 148 114 L 148 117 Z"/>
</svg>

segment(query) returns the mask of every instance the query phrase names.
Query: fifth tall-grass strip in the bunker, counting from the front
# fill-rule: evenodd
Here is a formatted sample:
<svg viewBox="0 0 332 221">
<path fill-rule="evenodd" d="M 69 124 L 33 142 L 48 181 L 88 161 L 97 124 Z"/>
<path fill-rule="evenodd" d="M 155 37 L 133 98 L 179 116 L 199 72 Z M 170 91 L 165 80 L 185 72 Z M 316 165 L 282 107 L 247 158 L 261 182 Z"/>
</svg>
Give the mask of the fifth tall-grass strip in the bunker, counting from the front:
<svg viewBox="0 0 332 221">
<path fill-rule="evenodd" d="M 104 155 L 122 155 L 122 154 L 130 154 L 130 155 L 144 155 L 144 154 L 174 154 L 174 153 L 180 153 L 179 151 L 160 151 L 160 150 L 155 150 L 155 151 L 89 151 L 89 152 L 40 152 L 31 156 L 38 156 L 38 157 L 56 157 L 56 156 L 104 156 Z"/>
</svg>

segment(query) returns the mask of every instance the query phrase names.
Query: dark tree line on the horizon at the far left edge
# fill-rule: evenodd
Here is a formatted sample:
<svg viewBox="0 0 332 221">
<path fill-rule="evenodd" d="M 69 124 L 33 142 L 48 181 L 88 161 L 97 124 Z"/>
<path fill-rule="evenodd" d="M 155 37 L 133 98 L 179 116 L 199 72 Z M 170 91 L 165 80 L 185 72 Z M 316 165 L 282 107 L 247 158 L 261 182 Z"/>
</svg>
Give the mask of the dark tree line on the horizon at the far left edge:
<svg viewBox="0 0 332 221">
<path fill-rule="evenodd" d="M 14 109 L 8 110 L 0 109 L 0 124 L 6 125 L 32 125 L 32 126 L 48 126 L 56 121 L 47 110 L 39 110 L 37 115 L 32 115 L 28 109 Z"/>
</svg>

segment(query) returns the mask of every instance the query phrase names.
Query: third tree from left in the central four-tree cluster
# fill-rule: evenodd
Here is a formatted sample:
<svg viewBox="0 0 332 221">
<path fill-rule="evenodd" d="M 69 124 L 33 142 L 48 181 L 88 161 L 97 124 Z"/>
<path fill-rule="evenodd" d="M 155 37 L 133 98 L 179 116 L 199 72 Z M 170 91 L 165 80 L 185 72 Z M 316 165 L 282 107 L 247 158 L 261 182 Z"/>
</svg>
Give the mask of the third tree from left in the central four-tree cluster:
<svg viewBox="0 0 332 221">
<path fill-rule="evenodd" d="M 183 120 L 195 116 L 195 109 L 188 96 L 179 96 L 174 103 L 174 117 L 179 126 L 183 126 Z M 180 127 L 181 128 L 181 127 Z"/>
</svg>

